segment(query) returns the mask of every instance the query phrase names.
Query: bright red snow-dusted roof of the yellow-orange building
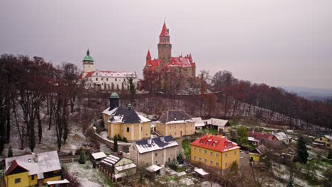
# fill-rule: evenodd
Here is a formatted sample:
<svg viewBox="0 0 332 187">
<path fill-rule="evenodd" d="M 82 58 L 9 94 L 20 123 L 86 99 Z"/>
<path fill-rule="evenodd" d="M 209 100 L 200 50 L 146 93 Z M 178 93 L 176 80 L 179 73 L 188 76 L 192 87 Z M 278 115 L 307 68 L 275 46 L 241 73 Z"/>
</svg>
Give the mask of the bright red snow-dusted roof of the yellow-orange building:
<svg viewBox="0 0 332 187">
<path fill-rule="evenodd" d="M 217 152 L 226 152 L 230 149 L 240 149 L 238 145 L 226 137 L 204 135 L 192 142 L 190 145 L 215 150 Z"/>
</svg>

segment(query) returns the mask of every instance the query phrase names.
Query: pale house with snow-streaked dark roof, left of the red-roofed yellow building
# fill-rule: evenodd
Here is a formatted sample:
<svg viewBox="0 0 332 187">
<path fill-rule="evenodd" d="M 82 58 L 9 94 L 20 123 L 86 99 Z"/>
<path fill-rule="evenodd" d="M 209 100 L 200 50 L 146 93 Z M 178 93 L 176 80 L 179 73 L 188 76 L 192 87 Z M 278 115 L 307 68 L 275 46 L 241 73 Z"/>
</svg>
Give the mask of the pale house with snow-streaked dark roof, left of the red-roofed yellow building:
<svg viewBox="0 0 332 187">
<path fill-rule="evenodd" d="M 133 142 L 129 155 L 140 166 L 163 165 L 172 162 L 179 154 L 179 145 L 172 136 L 155 137 Z"/>
</svg>

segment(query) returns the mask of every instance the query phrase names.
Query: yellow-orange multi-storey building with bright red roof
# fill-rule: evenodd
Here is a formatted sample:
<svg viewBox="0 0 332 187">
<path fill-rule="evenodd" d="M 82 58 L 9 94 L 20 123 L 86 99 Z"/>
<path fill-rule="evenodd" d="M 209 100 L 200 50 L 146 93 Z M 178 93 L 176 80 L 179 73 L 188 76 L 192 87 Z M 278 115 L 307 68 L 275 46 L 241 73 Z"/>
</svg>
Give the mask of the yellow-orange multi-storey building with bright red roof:
<svg viewBox="0 0 332 187">
<path fill-rule="evenodd" d="M 204 135 L 190 145 L 194 162 L 217 169 L 228 169 L 233 162 L 240 164 L 240 147 L 226 137 Z"/>
</svg>

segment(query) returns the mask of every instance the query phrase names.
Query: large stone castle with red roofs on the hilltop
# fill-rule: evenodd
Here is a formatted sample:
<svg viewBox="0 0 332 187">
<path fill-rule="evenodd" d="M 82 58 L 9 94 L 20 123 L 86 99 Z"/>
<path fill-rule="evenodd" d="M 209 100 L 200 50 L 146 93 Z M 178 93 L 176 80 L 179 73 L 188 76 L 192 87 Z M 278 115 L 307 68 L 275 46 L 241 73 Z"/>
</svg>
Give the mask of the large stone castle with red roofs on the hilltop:
<svg viewBox="0 0 332 187">
<path fill-rule="evenodd" d="M 172 44 L 170 43 L 170 30 L 166 23 L 162 26 L 158 43 L 158 59 L 152 59 L 150 50 L 146 55 L 144 71 L 166 71 L 175 73 L 178 78 L 194 78 L 196 76 L 196 64 L 192 60 L 192 54 L 182 57 L 172 57 Z M 173 74 L 174 76 L 174 74 Z"/>
</svg>

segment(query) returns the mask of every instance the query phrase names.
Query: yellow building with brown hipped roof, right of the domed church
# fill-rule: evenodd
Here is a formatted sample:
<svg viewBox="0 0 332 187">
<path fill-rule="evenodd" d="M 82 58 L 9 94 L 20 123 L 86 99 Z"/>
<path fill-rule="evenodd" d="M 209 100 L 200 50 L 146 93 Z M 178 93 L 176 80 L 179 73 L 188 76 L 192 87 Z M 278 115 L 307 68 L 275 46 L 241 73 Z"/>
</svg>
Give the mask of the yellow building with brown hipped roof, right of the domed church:
<svg viewBox="0 0 332 187">
<path fill-rule="evenodd" d="M 195 134 L 195 123 L 190 116 L 182 111 L 167 111 L 155 123 L 158 134 L 161 136 L 182 137 Z"/>
</svg>

